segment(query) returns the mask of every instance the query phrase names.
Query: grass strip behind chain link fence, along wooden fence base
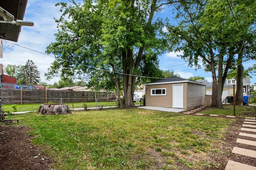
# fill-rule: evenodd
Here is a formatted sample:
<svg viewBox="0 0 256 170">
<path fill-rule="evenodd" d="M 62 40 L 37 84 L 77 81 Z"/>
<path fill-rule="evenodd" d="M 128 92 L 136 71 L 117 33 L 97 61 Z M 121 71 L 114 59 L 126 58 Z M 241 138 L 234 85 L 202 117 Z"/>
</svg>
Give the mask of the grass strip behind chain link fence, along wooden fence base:
<svg viewBox="0 0 256 170">
<path fill-rule="evenodd" d="M 139 104 L 139 102 L 136 102 Z M 77 108 L 84 108 L 85 104 L 87 106 L 87 109 L 90 109 L 92 107 L 96 107 L 96 102 L 88 102 L 88 103 L 68 103 L 69 109 L 77 109 Z M 104 107 L 111 107 L 111 106 L 117 106 L 116 102 L 98 102 L 98 107 L 104 106 Z M 15 112 L 14 107 L 16 107 L 17 111 L 38 111 L 41 104 L 2 104 L 2 109 L 8 110 L 10 112 Z"/>
</svg>

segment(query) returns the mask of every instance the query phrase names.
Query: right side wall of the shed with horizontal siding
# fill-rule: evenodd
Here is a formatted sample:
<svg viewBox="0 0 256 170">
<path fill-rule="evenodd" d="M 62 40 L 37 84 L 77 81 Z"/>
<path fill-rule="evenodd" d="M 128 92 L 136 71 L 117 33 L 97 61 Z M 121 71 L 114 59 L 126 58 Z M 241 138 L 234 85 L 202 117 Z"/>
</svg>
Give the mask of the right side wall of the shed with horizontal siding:
<svg viewBox="0 0 256 170">
<path fill-rule="evenodd" d="M 187 88 L 187 109 L 204 105 L 206 86 L 201 84 L 188 83 Z"/>
</svg>

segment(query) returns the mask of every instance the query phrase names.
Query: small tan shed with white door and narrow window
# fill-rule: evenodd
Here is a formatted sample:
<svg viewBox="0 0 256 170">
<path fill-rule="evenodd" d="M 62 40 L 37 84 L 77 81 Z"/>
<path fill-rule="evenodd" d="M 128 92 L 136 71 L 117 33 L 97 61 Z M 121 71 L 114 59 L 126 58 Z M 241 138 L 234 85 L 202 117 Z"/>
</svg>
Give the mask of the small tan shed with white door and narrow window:
<svg viewBox="0 0 256 170">
<path fill-rule="evenodd" d="M 146 106 L 191 109 L 204 105 L 206 84 L 171 76 L 148 83 Z"/>
</svg>

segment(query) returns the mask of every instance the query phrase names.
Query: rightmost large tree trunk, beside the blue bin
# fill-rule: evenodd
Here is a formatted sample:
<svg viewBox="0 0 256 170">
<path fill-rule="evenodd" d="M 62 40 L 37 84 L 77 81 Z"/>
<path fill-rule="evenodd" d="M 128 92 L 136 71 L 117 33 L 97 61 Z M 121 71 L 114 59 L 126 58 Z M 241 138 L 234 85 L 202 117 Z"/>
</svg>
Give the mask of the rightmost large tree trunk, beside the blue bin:
<svg viewBox="0 0 256 170">
<path fill-rule="evenodd" d="M 242 52 L 238 53 L 237 61 L 237 79 L 236 79 L 236 103 L 242 106 L 243 99 L 243 76 L 244 76 L 244 66 L 242 64 L 243 55 Z"/>
</svg>

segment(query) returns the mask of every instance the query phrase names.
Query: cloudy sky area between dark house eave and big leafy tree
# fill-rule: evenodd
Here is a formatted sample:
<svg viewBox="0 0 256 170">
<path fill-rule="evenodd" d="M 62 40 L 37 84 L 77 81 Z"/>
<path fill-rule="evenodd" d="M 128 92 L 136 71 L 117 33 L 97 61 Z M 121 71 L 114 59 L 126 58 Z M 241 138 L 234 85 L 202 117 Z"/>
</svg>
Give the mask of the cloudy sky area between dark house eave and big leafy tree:
<svg viewBox="0 0 256 170">
<path fill-rule="evenodd" d="M 54 61 L 54 57 L 41 54 L 45 53 L 46 47 L 55 41 L 54 33 L 58 32 L 54 18 L 60 18 L 62 13 L 59 11 L 60 6 L 55 6 L 57 2 L 59 0 L 28 1 L 24 21 L 32 21 L 34 22 L 34 26 L 22 26 L 18 42 L 4 42 L 4 57 L 0 59 L 0 63 L 4 65 L 24 65 L 30 59 L 38 66 L 42 82 L 53 84 L 60 80 L 60 78 L 54 78 L 53 80 L 46 81 L 44 73 L 48 72 L 48 68 Z"/>
</svg>

